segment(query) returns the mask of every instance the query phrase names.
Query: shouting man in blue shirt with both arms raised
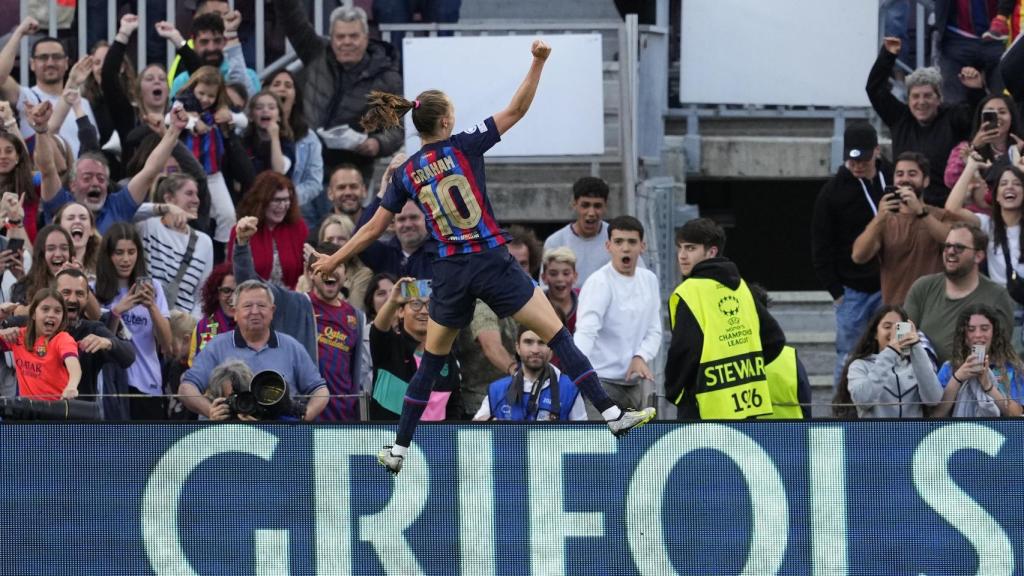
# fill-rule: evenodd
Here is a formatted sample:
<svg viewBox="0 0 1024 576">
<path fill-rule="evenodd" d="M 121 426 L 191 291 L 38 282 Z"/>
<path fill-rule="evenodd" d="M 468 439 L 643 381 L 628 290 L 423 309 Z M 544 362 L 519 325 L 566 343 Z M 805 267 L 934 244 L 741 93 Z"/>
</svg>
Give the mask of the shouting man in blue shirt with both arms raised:
<svg viewBox="0 0 1024 576">
<path fill-rule="evenodd" d="M 132 176 L 128 186 L 110 194 L 108 186 L 111 170 L 103 155 L 99 153 L 82 154 L 75 163 L 69 187 L 60 184 L 60 175 L 53 160 L 53 136 L 47 131 L 51 113 L 49 102 L 37 105 L 29 111 L 29 123 L 36 130 L 36 165 L 42 174 L 40 192 L 43 216 L 47 222 L 51 221 L 61 206 L 78 202 L 96 216 L 96 230 L 100 234 L 105 234 L 106 229 L 115 222 L 132 220 L 139 205 L 145 201 L 153 180 L 163 172 L 167 159 L 171 157 L 171 151 L 178 141 L 178 135 L 188 123 L 185 112 L 175 110 L 171 114 L 171 125 L 164 130 L 163 138 L 146 159 L 142 170 Z"/>
</svg>

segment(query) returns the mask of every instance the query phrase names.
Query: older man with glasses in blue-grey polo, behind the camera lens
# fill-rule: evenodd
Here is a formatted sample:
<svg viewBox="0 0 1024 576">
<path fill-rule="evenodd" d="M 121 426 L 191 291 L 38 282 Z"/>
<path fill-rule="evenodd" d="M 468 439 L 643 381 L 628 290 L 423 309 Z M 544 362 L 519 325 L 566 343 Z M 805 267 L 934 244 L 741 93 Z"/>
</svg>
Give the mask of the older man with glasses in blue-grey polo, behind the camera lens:
<svg viewBox="0 0 1024 576">
<path fill-rule="evenodd" d="M 211 420 L 229 417 L 230 410 L 215 410 L 214 403 L 204 393 L 214 368 L 229 360 L 240 360 L 257 373 L 279 371 L 292 398 L 308 398 L 301 419 L 315 419 L 329 400 L 327 382 L 302 344 L 270 329 L 275 310 L 273 292 L 262 281 L 249 280 L 234 289 L 234 302 L 237 328 L 216 336 L 196 355 L 193 367 L 181 377 L 178 388 L 181 402 Z"/>
</svg>

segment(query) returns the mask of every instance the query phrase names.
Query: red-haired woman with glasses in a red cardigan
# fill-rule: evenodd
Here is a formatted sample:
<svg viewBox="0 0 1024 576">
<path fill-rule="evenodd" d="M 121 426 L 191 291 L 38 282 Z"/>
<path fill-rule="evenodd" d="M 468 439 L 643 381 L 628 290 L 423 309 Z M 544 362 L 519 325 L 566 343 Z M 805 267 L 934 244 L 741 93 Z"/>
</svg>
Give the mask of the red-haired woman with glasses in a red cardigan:
<svg viewBox="0 0 1024 576">
<path fill-rule="evenodd" d="M 256 176 L 252 189 L 239 204 L 238 217 L 245 216 L 259 220 L 259 231 L 249 241 L 256 274 L 267 282 L 294 290 L 302 275 L 302 244 L 309 230 L 299 213 L 291 178 L 271 171 Z M 234 249 L 234 234 L 232 228 L 228 254 Z"/>
</svg>

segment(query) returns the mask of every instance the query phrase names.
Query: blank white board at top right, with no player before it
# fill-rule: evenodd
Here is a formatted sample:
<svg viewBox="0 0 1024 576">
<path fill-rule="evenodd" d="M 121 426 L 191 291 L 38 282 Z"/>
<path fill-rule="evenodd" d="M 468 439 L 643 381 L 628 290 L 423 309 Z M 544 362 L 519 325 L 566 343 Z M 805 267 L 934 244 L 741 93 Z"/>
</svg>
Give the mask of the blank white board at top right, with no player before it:
<svg viewBox="0 0 1024 576">
<path fill-rule="evenodd" d="M 878 2 L 686 0 L 680 100 L 868 107 Z"/>
</svg>

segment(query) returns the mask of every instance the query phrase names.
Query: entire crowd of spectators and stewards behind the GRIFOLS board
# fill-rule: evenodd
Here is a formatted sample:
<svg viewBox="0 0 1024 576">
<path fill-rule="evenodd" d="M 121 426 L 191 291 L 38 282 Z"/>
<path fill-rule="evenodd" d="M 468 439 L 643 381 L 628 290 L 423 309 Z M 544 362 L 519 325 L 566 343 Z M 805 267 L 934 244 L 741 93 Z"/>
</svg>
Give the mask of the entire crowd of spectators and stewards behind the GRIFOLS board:
<svg viewBox="0 0 1024 576">
<path fill-rule="evenodd" d="M 408 20 L 385 4 L 378 22 Z M 458 2 L 441 4 L 437 18 L 457 17 Z M 1000 60 L 1017 33 L 1002 25 L 1018 12 L 988 4 L 965 19 L 955 3 L 936 3 L 942 66 L 901 77 L 903 99 L 890 85 L 903 39 L 885 38 L 866 91 L 895 163 L 871 126 L 851 124 L 844 164 L 817 199 L 813 265 L 836 301 L 836 415 L 1021 413 L 1024 48 Z M 896 18 L 901 5 L 884 9 Z M 327 38 L 302 2 L 272 11 L 302 69 L 262 82 L 243 46 L 252 23 L 221 0 L 196 2 L 187 38 L 125 13 L 113 41 L 74 65 L 32 17 L 9 35 L 0 394 L 92 402 L 112 420 L 397 417 L 429 322 L 437 244 L 424 214 L 407 203 L 393 230 L 333 275 L 312 264 L 380 209 L 387 180 L 371 181 L 375 166 L 404 160 L 400 128 L 360 125 L 371 91 L 401 92 L 400 54 L 351 4 L 330 12 Z M 131 61 L 140 26 L 176 52 L 169 71 Z M 23 38 L 30 86 L 12 76 Z M 604 180 L 584 176 L 573 221 L 543 243 L 529 229 L 506 234 L 602 386 L 642 408 L 656 400 L 666 303 L 643 261 L 644 227 L 606 218 L 608 200 Z M 725 257 L 724 231 L 698 219 L 676 240 L 669 401 L 684 418 L 808 417 L 806 370 L 763 290 Z M 279 381 L 263 371 L 287 409 L 261 404 Z M 600 414 L 546 342 L 482 302 L 424 412 L 588 417 Z"/>
</svg>

